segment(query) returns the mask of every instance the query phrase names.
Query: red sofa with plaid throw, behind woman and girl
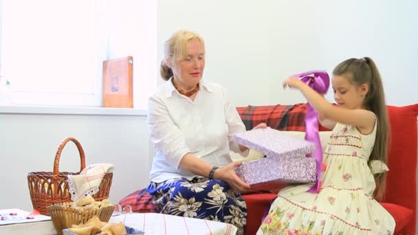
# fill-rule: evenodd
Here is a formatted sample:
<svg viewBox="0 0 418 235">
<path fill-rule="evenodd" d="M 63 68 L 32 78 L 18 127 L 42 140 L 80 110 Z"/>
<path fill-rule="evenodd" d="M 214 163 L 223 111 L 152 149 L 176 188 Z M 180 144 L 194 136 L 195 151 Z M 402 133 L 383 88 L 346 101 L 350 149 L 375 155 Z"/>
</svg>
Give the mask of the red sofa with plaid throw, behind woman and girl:
<svg viewBox="0 0 418 235">
<path fill-rule="evenodd" d="M 238 107 L 245 127 L 261 122 L 282 131 L 305 131 L 306 104 Z M 388 106 L 391 137 L 388 155 L 388 177 L 382 205 L 396 221 L 395 234 L 415 234 L 417 214 L 417 115 L 418 104 L 406 107 Z M 322 126 L 320 131 L 327 131 Z M 134 212 L 156 212 L 152 197 L 138 190 L 120 201 L 131 205 Z M 255 234 L 263 215 L 276 198 L 270 192 L 245 194 L 248 219 L 245 234 Z"/>
</svg>

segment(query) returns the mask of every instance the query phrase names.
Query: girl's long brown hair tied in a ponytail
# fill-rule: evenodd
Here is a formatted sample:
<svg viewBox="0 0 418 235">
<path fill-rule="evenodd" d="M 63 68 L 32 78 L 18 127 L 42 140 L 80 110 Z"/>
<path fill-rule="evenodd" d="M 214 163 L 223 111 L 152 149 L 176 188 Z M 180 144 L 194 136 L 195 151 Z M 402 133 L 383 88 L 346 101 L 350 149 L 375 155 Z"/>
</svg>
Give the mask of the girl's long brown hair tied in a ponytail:
<svg viewBox="0 0 418 235">
<path fill-rule="evenodd" d="M 380 160 L 386 164 L 390 128 L 382 78 L 375 63 L 369 57 L 350 58 L 337 65 L 333 70 L 333 75 L 345 76 L 357 86 L 369 85 L 369 91 L 364 98 L 364 107 L 375 113 L 377 117 L 375 145 L 369 158 L 369 164 L 371 160 Z M 386 173 L 376 174 L 375 181 L 377 186 L 375 197 L 383 199 L 386 188 Z"/>
</svg>

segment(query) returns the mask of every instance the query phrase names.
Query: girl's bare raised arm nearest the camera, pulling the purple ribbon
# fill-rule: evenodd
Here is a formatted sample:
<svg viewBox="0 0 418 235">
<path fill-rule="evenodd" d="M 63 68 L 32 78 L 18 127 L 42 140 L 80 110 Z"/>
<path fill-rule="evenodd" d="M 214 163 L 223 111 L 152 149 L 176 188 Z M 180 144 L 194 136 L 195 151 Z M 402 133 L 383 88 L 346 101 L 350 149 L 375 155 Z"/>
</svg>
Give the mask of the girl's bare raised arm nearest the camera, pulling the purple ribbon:
<svg viewBox="0 0 418 235">
<path fill-rule="evenodd" d="M 283 87 L 292 87 L 299 89 L 308 102 L 316 109 L 318 115 L 325 119 L 357 126 L 362 133 L 368 133 L 373 130 L 375 124 L 375 115 L 365 109 L 343 109 L 337 107 L 322 97 L 319 93 L 311 89 L 305 82 L 298 78 L 289 78 L 283 82 Z"/>
</svg>

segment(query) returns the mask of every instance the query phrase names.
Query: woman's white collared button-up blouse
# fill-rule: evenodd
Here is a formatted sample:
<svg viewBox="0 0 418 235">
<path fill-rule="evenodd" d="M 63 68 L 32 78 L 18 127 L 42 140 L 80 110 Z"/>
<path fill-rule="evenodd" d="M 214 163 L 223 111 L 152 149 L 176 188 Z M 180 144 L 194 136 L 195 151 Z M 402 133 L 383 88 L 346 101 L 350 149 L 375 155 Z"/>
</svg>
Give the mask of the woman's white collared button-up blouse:
<svg viewBox="0 0 418 235">
<path fill-rule="evenodd" d="M 248 155 L 248 150 L 241 153 L 238 144 L 232 142 L 232 134 L 245 131 L 245 126 L 223 87 L 201 80 L 192 101 L 180 95 L 171 79 L 148 100 L 148 128 L 155 148 L 151 181 L 196 177 L 179 168 L 186 153 L 213 166 L 230 164 L 230 150 Z"/>
</svg>

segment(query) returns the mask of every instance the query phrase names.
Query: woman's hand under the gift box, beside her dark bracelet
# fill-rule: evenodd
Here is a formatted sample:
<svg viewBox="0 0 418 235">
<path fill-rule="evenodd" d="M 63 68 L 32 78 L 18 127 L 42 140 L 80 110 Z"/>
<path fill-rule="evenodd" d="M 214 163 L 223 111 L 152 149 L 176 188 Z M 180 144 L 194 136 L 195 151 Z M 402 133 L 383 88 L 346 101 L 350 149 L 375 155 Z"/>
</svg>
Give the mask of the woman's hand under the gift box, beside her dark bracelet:
<svg viewBox="0 0 418 235">
<path fill-rule="evenodd" d="M 234 169 L 239 165 L 241 165 L 241 162 L 234 161 L 232 164 L 218 168 L 214 172 L 214 179 L 225 181 L 225 183 L 228 183 L 228 185 L 236 190 L 236 192 L 248 192 L 248 190 L 250 190 L 250 185 L 245 183 L 235 173 Z"/>
</svg>

